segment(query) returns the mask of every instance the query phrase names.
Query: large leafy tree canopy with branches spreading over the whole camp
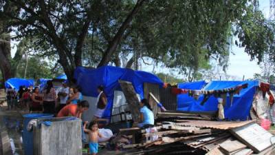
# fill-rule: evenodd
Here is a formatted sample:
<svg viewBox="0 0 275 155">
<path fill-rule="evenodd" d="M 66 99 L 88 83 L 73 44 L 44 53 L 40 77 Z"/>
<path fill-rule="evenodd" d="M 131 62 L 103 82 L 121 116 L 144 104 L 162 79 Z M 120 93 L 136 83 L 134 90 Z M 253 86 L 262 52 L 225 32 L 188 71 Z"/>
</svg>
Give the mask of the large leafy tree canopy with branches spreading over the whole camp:
<svg viewBox="0 0 275 155">
<path fill-rule="evenodd" d="M 249 0 L 10 0 L 1 1 L 0 16 L 17 37 L 34 38 L 34 51 L 57 56 L 69 79 L 78 65 L 127 59 L 133 67 L 144 57 L 195 77 L 201 58 L 227 67 L 233 35 L 252 59 L 275 53 L 274 26 L 255 8 Z"/>
</svg>

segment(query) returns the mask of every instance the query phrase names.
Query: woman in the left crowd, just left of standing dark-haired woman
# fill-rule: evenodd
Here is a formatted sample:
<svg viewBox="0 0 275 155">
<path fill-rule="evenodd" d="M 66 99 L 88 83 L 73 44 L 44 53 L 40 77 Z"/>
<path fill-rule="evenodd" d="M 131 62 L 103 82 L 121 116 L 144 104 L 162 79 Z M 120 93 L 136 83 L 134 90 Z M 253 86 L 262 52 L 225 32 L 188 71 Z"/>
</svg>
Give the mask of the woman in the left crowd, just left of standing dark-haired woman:
<svg viewBox="0 0 275 155">
<path fill-rule="evenodd" d="M 31 96 L 32 102 L 30 103 L 30 113 L 35 112 L 35 113 L 40 113 L 43 110 L 42 104 L 43 104 L 43 99 L 42 95 L 39 94 L 39 87 L 34 88 L 34 92 L 32 93 Z"/>
</svg>

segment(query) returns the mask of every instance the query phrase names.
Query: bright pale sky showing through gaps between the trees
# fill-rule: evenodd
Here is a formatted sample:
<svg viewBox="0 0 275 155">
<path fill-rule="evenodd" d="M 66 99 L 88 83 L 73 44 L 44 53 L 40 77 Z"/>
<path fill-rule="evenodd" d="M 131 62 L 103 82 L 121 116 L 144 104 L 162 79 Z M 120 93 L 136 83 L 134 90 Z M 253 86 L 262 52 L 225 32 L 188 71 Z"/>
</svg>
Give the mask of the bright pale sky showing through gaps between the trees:
<svg viewBox="0 0 275 155">
<path fill-rule="evenodd" d="M 265 17 L 268 18 L 270 13 L 270 0 L 259 0 L 259 9 L 262 10 Z M 17 43 L 18 42 L 12 41 L 12 56 L 14 56 L 14 53 L 17 50 Z M 245 75 L 245 79 L 252 79 L 255 73 L 261 73 L 261 68 L 257 64 L 257 61 L 250 61 L 250 56 L 244 52 L 244 48 L 232 45 L 232 52 L 234 54 L 230 54 L 227 74 L 234 76 L 235 80 L 243 79 L 243 75 Z M 152 72 L 153 66 L 142 64 L 141 70 Z M 177 78 L 184 78 L 184 75 L 178 74 L 177 72 L 162 66 L 157 66 L 154 71 L 174 74 Z"/>
</svg>

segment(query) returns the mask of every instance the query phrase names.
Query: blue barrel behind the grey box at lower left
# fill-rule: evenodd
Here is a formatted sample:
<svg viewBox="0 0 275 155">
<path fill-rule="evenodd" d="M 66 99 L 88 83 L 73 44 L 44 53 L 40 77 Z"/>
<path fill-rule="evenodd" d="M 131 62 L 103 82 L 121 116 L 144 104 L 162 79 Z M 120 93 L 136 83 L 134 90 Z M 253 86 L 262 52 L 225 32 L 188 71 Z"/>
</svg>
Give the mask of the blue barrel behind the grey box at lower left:
<svg viewBox="0 0 275 155">
<path fill-rule="evenodd" d="M 25 114 L 23 122 L 23 146 L 25 155 L 33 155 L 34 146 L 34 135 L 32 132 L 28 132 L 28 123 L 35 118 L 52 118 L 53 114 Z"/>
</svg>

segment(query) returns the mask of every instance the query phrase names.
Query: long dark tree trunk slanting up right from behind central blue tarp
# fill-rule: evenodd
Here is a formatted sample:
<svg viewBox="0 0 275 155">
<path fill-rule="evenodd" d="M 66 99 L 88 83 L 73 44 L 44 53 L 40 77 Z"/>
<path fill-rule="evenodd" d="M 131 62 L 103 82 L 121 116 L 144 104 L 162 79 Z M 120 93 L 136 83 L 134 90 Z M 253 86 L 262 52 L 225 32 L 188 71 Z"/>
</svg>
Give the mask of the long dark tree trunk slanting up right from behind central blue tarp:
<svg viewBox="0 0 275 155">
<path fill-rule="evenodd" d="M 142 6 L 142 3 L 144 3 L 144 1 L 145 0 L 138 0 L 137 1 L 137 3 L 135 4 L 135 7 L 128 14 L 127 18 L 125 19 L 125 21 L 120 26 L 120 29 L 115 34 L 115 37 L 113 37 L 113 40 L 109 44 L 107 50 L 104 52 L 104 54 L 102 56 L 102 59 L 101 59 L 100 63 L 98 64 L 98 67 L 100 67 L 102 65 L 107 65 L 109 63 L 109 61 L 111 61 L 111 56 L 113 55 L 116 48 L 120 44 L 120 41 L 123 37 L 123 34 L 124 34 L 125 30 L 128 28 L 129 24 L 133 20 L 133 17 L 135 16 L 135 14 L 137 14 L 138 10 L 140 10 L 140 8 Z"/>
</svg>

